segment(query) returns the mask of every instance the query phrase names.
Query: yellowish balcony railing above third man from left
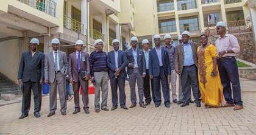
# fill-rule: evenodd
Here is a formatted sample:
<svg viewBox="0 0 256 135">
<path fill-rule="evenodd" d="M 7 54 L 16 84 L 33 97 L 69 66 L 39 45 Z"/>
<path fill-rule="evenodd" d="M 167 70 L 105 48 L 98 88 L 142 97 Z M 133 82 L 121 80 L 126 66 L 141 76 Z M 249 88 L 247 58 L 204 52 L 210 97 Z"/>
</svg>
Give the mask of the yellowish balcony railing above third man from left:
<svg viewBox="0 0 256 135">
<path fill-rule="evenodd" d="M 64 15 L 64 18 L 63 18 L 63 26 L 66 29 L 73 30 L 74 32 L 79 32 L 79 33 L 85 34 L 84 33 L 84 24 L 82 24 L 79 21 L 76 21 L 75 19 L 69 18 L 66 15 Z"/>
</svg>

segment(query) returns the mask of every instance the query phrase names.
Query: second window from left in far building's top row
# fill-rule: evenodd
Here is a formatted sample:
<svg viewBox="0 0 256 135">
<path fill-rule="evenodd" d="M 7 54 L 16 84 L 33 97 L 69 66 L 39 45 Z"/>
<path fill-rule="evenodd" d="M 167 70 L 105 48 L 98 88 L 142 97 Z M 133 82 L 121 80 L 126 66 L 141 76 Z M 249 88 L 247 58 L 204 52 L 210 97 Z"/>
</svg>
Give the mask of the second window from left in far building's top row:
<svg viewBox="0 0 256 135">
<path fill-rule="evenodd" d="M 196 1 L 194 0 L 179 0 L 177 5 L 178 10 L 196 9 Z"/>
</svg>

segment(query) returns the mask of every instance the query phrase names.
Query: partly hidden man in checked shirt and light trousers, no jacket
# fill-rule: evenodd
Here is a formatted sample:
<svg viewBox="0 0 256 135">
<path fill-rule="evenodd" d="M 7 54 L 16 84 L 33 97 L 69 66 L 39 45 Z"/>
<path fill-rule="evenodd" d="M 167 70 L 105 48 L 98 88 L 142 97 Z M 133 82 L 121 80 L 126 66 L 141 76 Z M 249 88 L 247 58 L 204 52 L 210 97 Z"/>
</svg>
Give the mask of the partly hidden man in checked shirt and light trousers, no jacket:
<svg viewBox="0 0 256 135">
<path fill-rule="evenodd" d="M 183 94 L 181 91 L 181 83 L 179 83 L 179 101 L 177 99 L 177 94 L 176 94 L 176 80 L 177 80 L 177 74 L 174 69 L 174 51 L 175 51 L 175 44 L 171 44 L 171 35 L 166 34 L 163 38 L 165 40 L 165 50 L 168 52 L 169 56 L 169 65 L 170 65 L 170 70 L 168 74 L 168 82 L 169 82 L 169 88 L 171 88 L 172 92 L 172 102 L 180 104 L 182 103 L 183 99 Z"/>
</svg>

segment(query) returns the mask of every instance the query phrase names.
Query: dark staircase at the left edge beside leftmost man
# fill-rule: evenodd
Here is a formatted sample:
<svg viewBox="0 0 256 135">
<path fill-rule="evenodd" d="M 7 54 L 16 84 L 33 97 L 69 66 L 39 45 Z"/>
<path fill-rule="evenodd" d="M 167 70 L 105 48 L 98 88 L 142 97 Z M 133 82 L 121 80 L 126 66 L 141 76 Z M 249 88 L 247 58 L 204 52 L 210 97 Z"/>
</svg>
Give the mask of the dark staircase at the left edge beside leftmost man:
<svg viewBox="0 0 256 135">
<path fill-rule="evenodd" d="M 20 86 L 0 72 L 0 95 L 1 94 L 21 94 Z"/>
</svg>

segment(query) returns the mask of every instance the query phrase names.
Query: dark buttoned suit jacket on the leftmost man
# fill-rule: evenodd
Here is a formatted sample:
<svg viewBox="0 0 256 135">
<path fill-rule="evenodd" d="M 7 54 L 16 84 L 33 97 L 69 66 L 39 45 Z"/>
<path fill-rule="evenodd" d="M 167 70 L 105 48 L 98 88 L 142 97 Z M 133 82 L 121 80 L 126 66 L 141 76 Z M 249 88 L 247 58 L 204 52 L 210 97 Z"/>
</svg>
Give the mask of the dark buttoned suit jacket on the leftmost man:
<svg viewBox="0 0 256 135">
<path fill-rule="evenodd" d="M 37 50 L 33 57 L 31 51 L 22 54 L 18 79 L 21 79 L 23 82 L 29 80 L 38 82 L 40 79 L 44 79 L 44 54 L 42 52 Z"/>
</svg>

